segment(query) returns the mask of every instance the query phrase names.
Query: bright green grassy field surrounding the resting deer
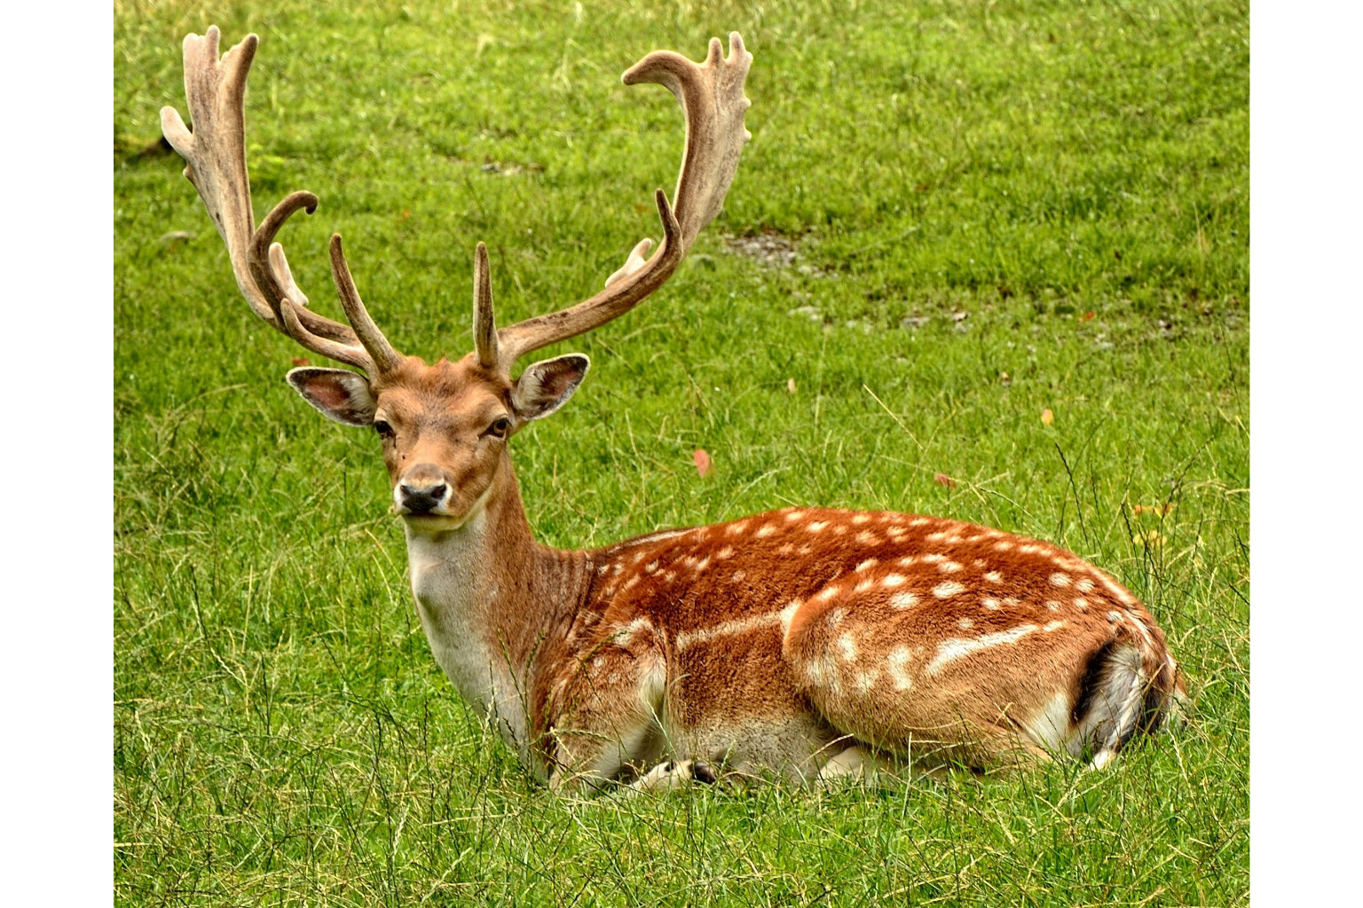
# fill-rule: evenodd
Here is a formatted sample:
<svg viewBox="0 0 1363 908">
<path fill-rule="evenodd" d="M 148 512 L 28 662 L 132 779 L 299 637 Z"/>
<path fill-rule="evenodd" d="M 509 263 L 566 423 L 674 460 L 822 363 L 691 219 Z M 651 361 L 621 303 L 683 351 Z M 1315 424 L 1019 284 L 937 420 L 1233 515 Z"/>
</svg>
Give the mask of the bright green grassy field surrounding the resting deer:
<svg viewBox="0 0 1363 908">
<path fill-rule="evenodd" d="M 259 5 L 114 5 L 119 904 L 1247 903 L 1246 3 Z M 819 504 L 1051 539 L 1148 603 L 1189 727 L 1094 775 L 549 795 L 427 649 L 376 438 L 285 385 L 158 146 L 211 23 L 260 34 L 256 211 L 322 197 L 300 285 L 339 312 L 341 231 L 428 359 L 472 348 L 476 241 L 508 321 L 657 236 L 680 116 L 619 74 L 740 31 L 724 214 L 547 351 L 593 372 L 512 445 L 536 534 Z"/>
</svg>

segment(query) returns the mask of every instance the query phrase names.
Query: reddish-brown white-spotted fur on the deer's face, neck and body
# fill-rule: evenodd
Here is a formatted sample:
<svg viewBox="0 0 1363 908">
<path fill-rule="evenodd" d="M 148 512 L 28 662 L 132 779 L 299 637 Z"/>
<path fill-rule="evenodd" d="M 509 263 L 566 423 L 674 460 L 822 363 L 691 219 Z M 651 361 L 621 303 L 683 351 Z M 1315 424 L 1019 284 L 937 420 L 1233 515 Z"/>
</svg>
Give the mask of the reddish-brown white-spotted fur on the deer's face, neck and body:
<svg viewBox="0 0 1363 908">
<path fill-rule="evenodd" d="M 808 779 L 857 742 L 977 768 L 1116 750 L 1178 690 L 1150 614 L 1054 545 L 810 508 L 559 553 L 533 542 L 506 441 L 487 436 L 514 407 L 507 380 L 473 355 L 409 359 L 375 391 L 394 485 L 438 470 L 453 487 L 409 535 L 477 553 L 480 576 L 459 581 L 477 611 L 428 626 L 432 645 L 483 636 L 523 700 L 515 743 L 556 784 L 668 756 Z M 1054 734 L 1037 724 L 1048 709 Z"/>
</svg>

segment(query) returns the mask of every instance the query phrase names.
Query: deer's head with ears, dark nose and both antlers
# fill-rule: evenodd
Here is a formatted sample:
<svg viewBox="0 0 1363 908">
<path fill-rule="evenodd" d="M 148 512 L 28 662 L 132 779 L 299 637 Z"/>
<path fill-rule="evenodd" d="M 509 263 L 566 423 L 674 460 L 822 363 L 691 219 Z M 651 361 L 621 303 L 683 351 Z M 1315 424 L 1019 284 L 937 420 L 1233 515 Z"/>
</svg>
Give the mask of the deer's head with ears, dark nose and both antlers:
<svg viewBox="0 0 1363 908">
<path fill-rule="evenodd" d="M 350 369 L 301 368 L 289 384 L 326 417 L 372 426 L 383 444 L 394 505 L 408 525 L 451 530 L 462 525 L 502 482 L 510 481 L 507 441 L 523 425 L 547 417 L 577 391 L 590 365 L 582 354 L 534 362 L 512 378 L 521 357 L 572 338 L 628 312 L 662 286 L 696 234 L 724 204 L 743 144 L 750 101 L 743 80 L 752 54 L 737 33 L 721 57 L 717 38 L 703 63 L 671 50 L 647 54 L 623 76 L 626 84 L 667 86 L 686 116 L 686 148 L 672 201 L 656 193 L 662 241 L 639 241 L 624 265 L 594 297 L 549 314 L 497 328 L 487 248 L 474 257 L 474 350 L 427 365 L 398 353 L 369 317 L 342 250 L 331 237 L 331 275 L 349 325 L 308 309 L 274 241 L 296 211 L 316 208 L 309 192 L 285 197 L 256 227 L 245 165 L 244 93 L 258 38 L 218 56 L 218 29 L 184 39 L 185 95 L 191 132 L 174 108 L 161 110 L 162 131 L 185 162 L 218 227 L 237 286 L 252 310 L 307 350 Z M 653 255 L 649 252 L 653 249 Z"/>
</svg>

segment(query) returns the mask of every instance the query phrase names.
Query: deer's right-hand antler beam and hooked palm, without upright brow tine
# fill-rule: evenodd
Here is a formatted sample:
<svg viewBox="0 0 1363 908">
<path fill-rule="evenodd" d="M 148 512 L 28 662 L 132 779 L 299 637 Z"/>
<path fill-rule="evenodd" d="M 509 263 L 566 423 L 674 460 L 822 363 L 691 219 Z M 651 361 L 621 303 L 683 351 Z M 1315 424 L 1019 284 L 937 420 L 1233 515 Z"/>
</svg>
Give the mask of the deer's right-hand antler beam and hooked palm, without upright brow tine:
<svg viewBox="0 0 1363 908">
<path fill-rule="evenodd" d="M 661 189 L 657 192 L 662 242 L 650 259 L 645 259 L 650 240 L 635 245 L 624 265 L 607 279 L 605 290 L 590 299 L 497 331 L 503 370 L 510 372 L 515 359 L 532 350 L 590 331 L 632 309 L 672 276 L 696 234 L 720 212 L 743 144 L 751 139 L 743 114 L 752 103 L 743 97 L 743 80 L 752 63 L 743 38 L 736 31 L 729 34 L 729 56 L 720 54 L 718 38 L 710 39 L 709 54 L 699 64 L 672 50 L 654 50 L 622 76 L 624 84 L 667 86 L 686 116 L 686 150 L 675 204 L 668 204 Z M 481 346 L 478 355 L 483 357 Z"/>
</svg>

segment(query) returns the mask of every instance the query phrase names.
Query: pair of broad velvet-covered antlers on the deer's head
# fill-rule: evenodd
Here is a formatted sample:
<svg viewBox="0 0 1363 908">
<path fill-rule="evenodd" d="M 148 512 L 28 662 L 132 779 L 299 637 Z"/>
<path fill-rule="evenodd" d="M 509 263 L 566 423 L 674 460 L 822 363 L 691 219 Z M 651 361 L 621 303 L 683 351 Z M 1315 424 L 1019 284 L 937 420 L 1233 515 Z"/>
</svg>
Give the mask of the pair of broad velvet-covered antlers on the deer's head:
<svg viewBox="0 0 1363 908">
<path fill-rule="evenodd" d="M 352 327 L 308 309 L 274 237 L 288 218 L 305 208 L 312 212 L 318 197 L 294 192 L 285 197 L 255 227 L 251 184 L 245 165 L 243 101 L 247 74 L 255 57 L 258 38 L 247 35 L 221 60 L 219 33 L 211 26 L 206 35 L 184 39 L 184 84 L 194 123 L 191 132 L 174 108 L 162 108 L 161 129 L 187 162 L 185 176 L 199 191 L 218 234 L 228 246 L 237 286 L 251 309 L 273 328 L 293 338 L 312 353 L 338 359 L 371 377 L 390 372 L 402 361 L 369 317 L 356 290 L 341 248 L 339 234 L 331 237 L 331 275 L 341 306 Z M 631 67 L 626 84 L 656 82 L 667 86 L 682 103 L 686 116 L 686 150 L 673 203 L 657 191 L 662 218 L 662 242 L 652 257 L 653 245 L 642 240 L 624 265 L 605 282 L 605 290 L 574 306 L 536 316 L 514 325 L 496 328 L 487 248 L 480 242 L 474 263 L 474 343 L 478 361 L 510 374 L 515 361 L 532 350 L 579 335 L 638 305 L 676 271 L 695 236 L 724 204 L 733 181 L 743 144 L 751 137 L 743 127 L 750 101 L 743 97 L 752 54 L 744 50 L 737 33 L 729 35 L 729 56 L 720 56 L 718 38 L 710 39 L 703 63 L 692 63 L 671 50 L 656 50 Z"/>
</svg>

